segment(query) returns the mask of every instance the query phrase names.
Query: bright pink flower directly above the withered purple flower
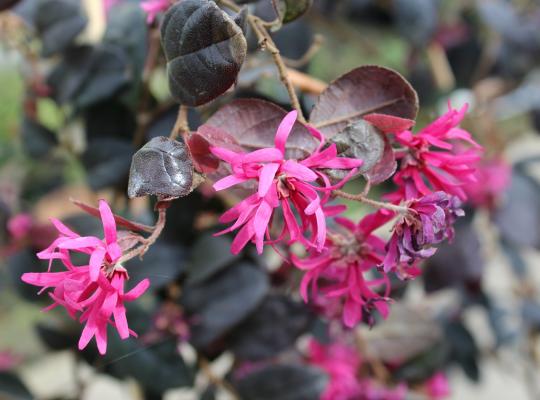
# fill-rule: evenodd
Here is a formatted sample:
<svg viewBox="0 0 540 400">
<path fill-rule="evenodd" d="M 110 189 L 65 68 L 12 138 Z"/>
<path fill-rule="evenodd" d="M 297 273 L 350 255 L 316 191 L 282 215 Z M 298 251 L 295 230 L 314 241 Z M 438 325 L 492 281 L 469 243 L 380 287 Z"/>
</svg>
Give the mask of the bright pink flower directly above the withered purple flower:
<svg viewBox="0 0 540 400">
<path fill-rule="evenodd" d="M 398 198 L 411 199 L 442 190 L 461 200 L 467 198 L 463 185 L 476 182 L 475 163 L 482 151 L 469 132 L 457 126 L 467 106 L 452 109 L 417 134 L 406 130 L 395 135 L 406 148 L 396 153 L 401 169 L 394 176 L 400 186 Z M 468 148 L 464 149 L 463 145 Z"/>
</svg>

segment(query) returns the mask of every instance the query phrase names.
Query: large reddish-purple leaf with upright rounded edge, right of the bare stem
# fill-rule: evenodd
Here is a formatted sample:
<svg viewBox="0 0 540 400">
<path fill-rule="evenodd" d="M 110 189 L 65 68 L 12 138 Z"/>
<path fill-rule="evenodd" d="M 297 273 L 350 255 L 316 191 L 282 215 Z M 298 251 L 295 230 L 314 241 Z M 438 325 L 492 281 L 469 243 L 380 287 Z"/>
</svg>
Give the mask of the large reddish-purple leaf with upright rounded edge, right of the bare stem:
<svg viewBox="0 0 540 400">
<path fill-rule="evenodd" d="M 417 112 L 418 96 L 405 78 L 391 69 L 368 65 L 332 82 L 319 96 L 310 122 L 330 138 L 367 114 L 414 120 Z"/>
</svg>

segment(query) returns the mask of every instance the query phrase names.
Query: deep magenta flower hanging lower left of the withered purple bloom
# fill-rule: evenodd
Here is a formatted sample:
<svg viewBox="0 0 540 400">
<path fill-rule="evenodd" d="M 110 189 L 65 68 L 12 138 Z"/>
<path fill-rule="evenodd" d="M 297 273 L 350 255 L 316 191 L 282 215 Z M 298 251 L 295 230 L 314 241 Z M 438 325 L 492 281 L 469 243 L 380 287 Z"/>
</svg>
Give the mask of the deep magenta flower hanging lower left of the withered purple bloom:
<svg viewBox="0 0 540 400">
<path fill-rule="evenodd" d="M 369 279 L 365 275 L 380 265 L 384 260 L 385 242 L 373 231 L 393 218 L 392 213 L 377 212 L 364 217 L 358 225 L 345 218 L 335 221 L 342 228 L 331 233 L 321 253 L 311 252 L 306 259 L 293 256 L 293 263 L 306 271 L 300 285 L 300 293 L 307 302 L 308 288 L 312 286 L 314 297 L 319 297 L 319 281 L 326 284 L 321 295 L 325 298 L 343 299 L 343 323 L 350 328 L 362 321 L 364 315 L 369 316 L 373 309 L 386 318 L 388 316 L 388 294 L 390 284 L 388 277 Z M 375 290 L 383 288 L 381 295 Z M 335 303 L 328 303 L 335 309 Z"/>
</svg>

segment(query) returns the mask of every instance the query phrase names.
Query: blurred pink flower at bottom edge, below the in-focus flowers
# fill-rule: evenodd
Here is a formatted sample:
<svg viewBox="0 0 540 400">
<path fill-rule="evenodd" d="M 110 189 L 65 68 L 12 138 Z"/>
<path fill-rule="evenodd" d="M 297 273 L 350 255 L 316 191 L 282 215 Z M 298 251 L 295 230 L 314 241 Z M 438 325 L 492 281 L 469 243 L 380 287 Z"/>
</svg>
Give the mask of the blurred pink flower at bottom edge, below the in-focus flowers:
<svg viewBox="0 0 540 400">
<path fill-rule="evenodd" d="M 361 359 L 354 347 L 341 343 L 323 345 L 309 342 L 308 362 L 328 374 L 329 382 L 321 400 L 357 400 L 363 398 L 357 374 Z"/>
</svg>

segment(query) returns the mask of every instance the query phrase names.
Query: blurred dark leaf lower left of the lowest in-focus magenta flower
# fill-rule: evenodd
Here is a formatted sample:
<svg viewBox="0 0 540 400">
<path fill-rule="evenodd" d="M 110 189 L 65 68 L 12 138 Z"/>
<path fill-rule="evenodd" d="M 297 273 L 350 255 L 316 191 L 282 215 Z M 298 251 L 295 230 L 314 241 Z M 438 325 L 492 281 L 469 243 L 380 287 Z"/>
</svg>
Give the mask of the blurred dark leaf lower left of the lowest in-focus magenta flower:
<svg viewBox="0 0 540 400">
<path fill-rule="evenodd" d="M 232 332 L 232 351 L 244 360 L 271 358 L 292 346 L 311 322 L 313 315 L 305 304 L 285 296 L 269 296 Z"/>
</svg>

